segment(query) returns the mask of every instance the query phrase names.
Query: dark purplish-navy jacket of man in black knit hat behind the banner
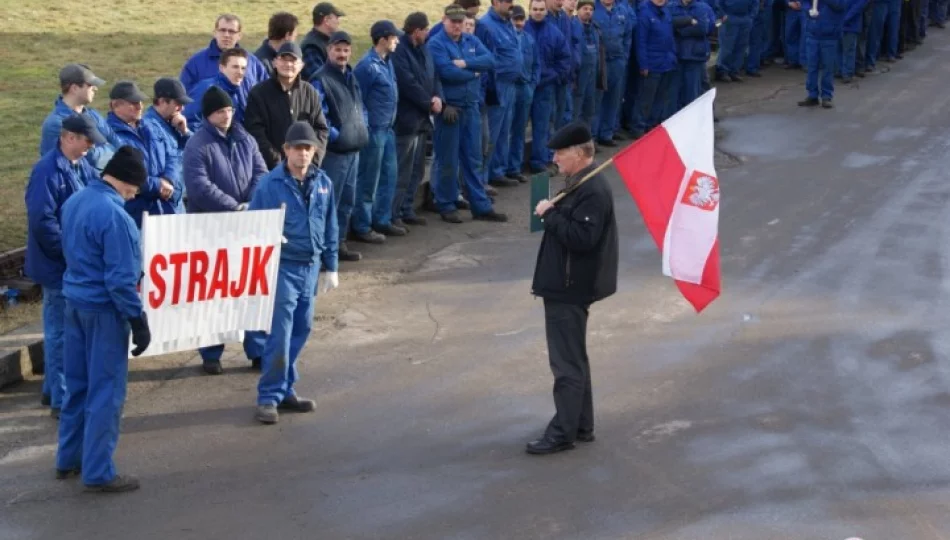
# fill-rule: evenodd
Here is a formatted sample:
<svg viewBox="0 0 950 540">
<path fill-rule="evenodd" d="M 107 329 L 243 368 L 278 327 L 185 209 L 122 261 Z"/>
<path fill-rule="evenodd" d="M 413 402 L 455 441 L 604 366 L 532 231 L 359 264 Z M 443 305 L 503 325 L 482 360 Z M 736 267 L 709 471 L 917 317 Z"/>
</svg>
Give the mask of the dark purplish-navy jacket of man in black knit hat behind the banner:
<svg viewBox="0 0 950 540">
<path fill-rule="evenodd" d="M 206 124 L 185 145 L 184 175 L 188 211 L 230 212 L 251 200 L 254 186 L 267 174 L 257 141 L 240 124 L 227 137 Z"/>
</svg>

